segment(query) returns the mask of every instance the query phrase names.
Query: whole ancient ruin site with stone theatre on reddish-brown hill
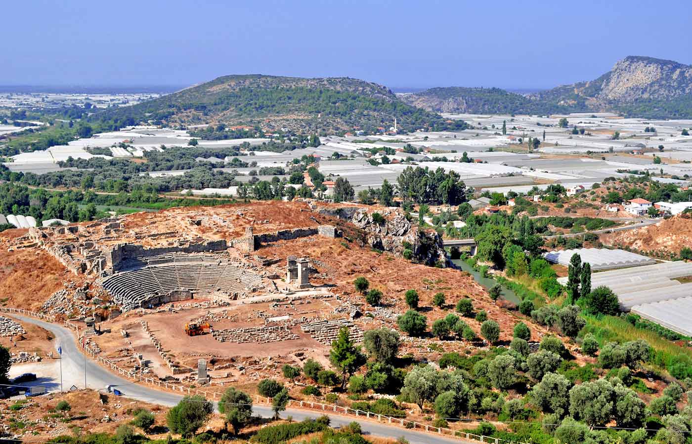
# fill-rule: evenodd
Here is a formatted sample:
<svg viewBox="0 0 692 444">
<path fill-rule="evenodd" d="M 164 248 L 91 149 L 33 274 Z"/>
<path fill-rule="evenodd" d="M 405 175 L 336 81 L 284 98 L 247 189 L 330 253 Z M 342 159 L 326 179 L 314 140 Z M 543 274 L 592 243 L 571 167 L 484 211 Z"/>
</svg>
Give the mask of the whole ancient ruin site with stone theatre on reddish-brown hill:
<svg viewBox="0 0 692 444">
<path fill-rule="evenodd" d="M 1 289 L 9 306 L 78 325 L 80 340 L 123 369 L 198 387 L 252 384 L 310 358 L 327 367 L 343 327 L 356 343 L 369 329 L 397 329 L 410 289 L 430 306 L 429 324 L 445 315 L 431 302 L 439 292 L 450 306 L 468 297 L 494 319 L 513 316 L 468 273 L 447 267 L 436 232 L 397 209 L 179 207 L 9 230 L 1 239 L 14 264 L 3 267 L 3 281 L 42 282 Z M 382 292 L 380 304 L 365 302 L 357 277 Z M 469 324 L 480 335 L 480 323 Z M 430 353 L 430 338 L 402 337 L 406 352 Z"/>
</svg>

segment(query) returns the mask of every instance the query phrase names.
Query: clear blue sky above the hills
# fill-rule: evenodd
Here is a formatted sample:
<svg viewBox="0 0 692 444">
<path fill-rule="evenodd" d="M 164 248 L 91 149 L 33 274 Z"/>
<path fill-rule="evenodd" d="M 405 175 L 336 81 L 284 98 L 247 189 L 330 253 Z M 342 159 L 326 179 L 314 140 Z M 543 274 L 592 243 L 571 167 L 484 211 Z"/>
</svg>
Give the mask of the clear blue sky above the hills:
<svg viewBox="0 0 692 444">
<path fill-rule="evenodd" d="M 9 1 L 0 84 L 347 76 L 540 89 L 626 55 L 692 63 L 685 1 Z"/>
</svg>

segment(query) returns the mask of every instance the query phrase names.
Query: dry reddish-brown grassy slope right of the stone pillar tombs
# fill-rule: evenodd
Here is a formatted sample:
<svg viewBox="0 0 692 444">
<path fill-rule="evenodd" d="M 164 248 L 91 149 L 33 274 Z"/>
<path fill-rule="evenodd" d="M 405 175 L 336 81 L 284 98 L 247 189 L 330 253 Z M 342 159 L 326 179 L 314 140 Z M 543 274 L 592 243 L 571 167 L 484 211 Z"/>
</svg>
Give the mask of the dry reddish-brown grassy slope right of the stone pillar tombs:
<svg viewBox="0 0 692 444">
<path fill-rule="evenodd" d="M 363 276 L 370 281 L 370 288 L 377 288 L 383 293 L 383 307 L 392 313 L 405 313 L 408 310 L 404 294 L 407 290 L 417 290 L 420 298 L 419 311 L 428 318 L 428 326 L 432 322 L 445 317 L 454 311 L 459 299 L 469 297 L 473 300 L 476 311 L 485 310 L 489 319 L 500 324 L 500 340 L 511 340 L 514 324 L 519 322 L 516 312 L 507 311 L 496 305 L 486 293 L 484 288 L 477 284 L 471 275 L 453 268 L 432 268 L 395 257 L 387 252 L 376 252 L 370 248 L 363 248 L 356 243 L 348 243 L 344 239 L 328 239 L 323 237 L 309 237 L 292 241 L 279 241 L 271 246 L 257 250 L 258 255 L 275 259 L 277 266 L 286 264 L 286 257 L 293 252 L 304 251 L 313 261 L 313 266 L 318 275 L 311 277 L 313 284 L 333 286 L 331 290 L 343 295 L 352 304 L 359 305 L 368 311 L 372 307 L 365 304 L 365 298 L 356 292 L 353 281 L 356 277 Z M 432 306 L 432 297 L 436 293 L 444 293 L 446 304 L 443 308 Z M 480 334 L 480 323 L 473 319 L 466 322 L 471 329 Z M 529 321 L 524 320 L 528 324 Z M 394 328 L 393 320 L 376 319 L 373 326 L 365 326 L 365 329 L 375 328 L 381 324 L 388 324 Z M 537 332 L 543 329 L 540 326 L 531 326 Z"/>
</svg>

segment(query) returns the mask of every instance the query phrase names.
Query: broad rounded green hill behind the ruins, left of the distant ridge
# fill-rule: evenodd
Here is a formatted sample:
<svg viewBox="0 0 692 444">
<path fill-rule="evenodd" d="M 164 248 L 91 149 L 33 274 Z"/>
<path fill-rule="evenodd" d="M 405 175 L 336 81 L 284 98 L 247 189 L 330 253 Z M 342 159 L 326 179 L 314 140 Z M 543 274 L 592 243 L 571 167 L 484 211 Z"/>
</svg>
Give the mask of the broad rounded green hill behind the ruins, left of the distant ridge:
<svg viewBox="0 0 692 444">
<path fill-rule="evenodd" d="M 385 86 L 347 77 L 227 75 L 132 107 L 108 109 L 91 120 L 154 124 L 224 123 L 265 131 L 377 132 L 397 118 L 399 129 L 455 129 L 436 113 L 401 102 Z"/>
</svg>

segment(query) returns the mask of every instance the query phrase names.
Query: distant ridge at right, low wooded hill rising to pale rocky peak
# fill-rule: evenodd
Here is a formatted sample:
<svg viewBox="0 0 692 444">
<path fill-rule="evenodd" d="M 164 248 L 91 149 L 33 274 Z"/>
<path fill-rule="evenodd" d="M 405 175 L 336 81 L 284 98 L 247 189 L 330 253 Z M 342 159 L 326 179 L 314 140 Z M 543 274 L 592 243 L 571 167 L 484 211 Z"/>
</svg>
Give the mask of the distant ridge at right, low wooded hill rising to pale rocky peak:
<svg viewBox="0 0 692 444">
<path fill-rule="evenodd" d="M 692 66 L 628 56 L 588 82 L 531 94 L 497 88 L 433 88 L 401 95 L 428 111 L 447 113 L 568 113 L 612 111 L 644 118 L 692 118 Z"/>
</svg>

